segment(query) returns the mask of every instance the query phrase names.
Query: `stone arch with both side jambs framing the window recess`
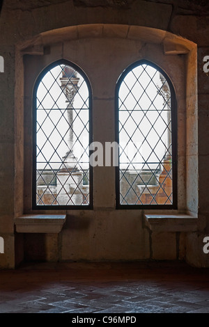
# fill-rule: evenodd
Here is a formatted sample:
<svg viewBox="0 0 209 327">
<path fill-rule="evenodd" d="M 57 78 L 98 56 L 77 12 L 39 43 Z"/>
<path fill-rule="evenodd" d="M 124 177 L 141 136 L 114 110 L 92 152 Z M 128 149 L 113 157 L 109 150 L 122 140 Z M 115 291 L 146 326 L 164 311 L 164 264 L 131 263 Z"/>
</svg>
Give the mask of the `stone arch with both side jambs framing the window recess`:
<svg viewBox="0 0 209 327">
<path fill-rule="evenodd" d="M 189 212 L 198 211 L 198 151 L 197 151 L 197 86 L 196 86 L 196 44 L 173 33 L 160 29 L 153 29 L 144 26 L 128 26 L 121 24 L 85 24 L 68 26 L 61 29 L 54 29 L 36 35 L 31 40 L 17 44 L 16 52 L 16 84 L 15 84 L 15 115 L 23 117 L 22 94 L 24 93 L 24 65 L 22 56 L 24 54 L 43 56 L 50 51 L 50 47 L 65 41 L 90 40 L 90 39 L 121 39 L 134 40 L 141 48 L 147 43 L 160 45 L 164 56 L 185 55 L 186 77 L 185 77 L 185 120 L 186 131 L 186 173 L 180 178 L 186 183 L 186 204 L 183 209 Z M 63 58 L 63 54 L 60 54 Z M 148 58 L 149 59 L 149 58 Z M 159 63 L 156 63 L 159 65 Z M 124 67 L 125 69 L 125 67 Z M 169 75 L 169 74 L 168 74 Z M 170 76 L 169 76 L 170 77 Z M 170 77 L 171 78 L 171 77 Z M 192 83 L 191 83 L 192 81 Z M 175 85 L 174 85 L 175 88 Z M 23 156 L 23 134 L 22 118 L 16 120 L 16 214 L 21 215 L 24 211 L 22 200 L 24 188 L 20 178 L 24 178 Z M 192 179 L 191 176 L 192 175 Z M 18 177 L 17 177 L 18 176 Z M 17 180 L 18 179 L 18 180 Z"/>
</svg>

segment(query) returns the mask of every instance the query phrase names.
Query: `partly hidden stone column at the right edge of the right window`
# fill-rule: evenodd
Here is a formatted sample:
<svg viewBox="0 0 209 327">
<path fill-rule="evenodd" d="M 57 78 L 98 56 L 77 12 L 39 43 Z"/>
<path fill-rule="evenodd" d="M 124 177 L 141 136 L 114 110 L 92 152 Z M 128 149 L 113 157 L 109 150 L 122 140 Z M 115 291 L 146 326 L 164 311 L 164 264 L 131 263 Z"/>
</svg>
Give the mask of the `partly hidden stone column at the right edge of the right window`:
<svg viewBox="0 0 209 327">
<path fill-rule="evenodd" d="M 169 85 L 162 74 L 160 74 L 160 80 L 162 81 L 162 88 L 160 91 L 164 96 L 164 106 L 165 109 L 167 109 L 167 125 L 171 129 L 171 93 L 170 93 Z M 170 129 L 167 128 L 167 142 L 166 142 L 166 146 L 167 149 L 169 149 L 169 152 L 171 152 Z M 160 174 L 159 177 L 159 183 L 162 185 L 162 189 L 164 189 L 167 196 L 170 196 L 172 192 L 172 180 L 171 180 L 172 174 L 170 173 L 169 176 L 167 175 L 171 170 L 171 159 L 172 159 L 171 154 L 169 154 L 166 150 L 166 153 L 164 155 L 164 160 L 162 163 L 163 166 L 162 173 Z M 162 189 L 160 190 L 160 192 L 158 192 L 158 196 L 157 196 L 158 204 L 164 204 L 165 201 L 167 200 L 167 196 L 164 194 L 164 191 Z M 167 201 L 167 204 L 170 203 L 171 203 L 170 201 Z"/>
</svg>

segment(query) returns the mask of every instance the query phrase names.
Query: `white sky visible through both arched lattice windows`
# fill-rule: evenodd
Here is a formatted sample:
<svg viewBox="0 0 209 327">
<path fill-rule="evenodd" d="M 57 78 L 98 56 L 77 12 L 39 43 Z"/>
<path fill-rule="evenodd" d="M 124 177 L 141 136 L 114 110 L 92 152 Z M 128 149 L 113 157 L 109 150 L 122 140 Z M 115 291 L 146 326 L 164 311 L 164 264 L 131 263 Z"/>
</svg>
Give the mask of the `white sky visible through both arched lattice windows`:
<svg viewBox="0 0 209 327">
<path fill-rule="evenodd" d="M 146 68 L 146 71 L 148 72 L 150 77 L 153 77 L 156 72 L 155 68 L 150 66 Z M 142 167 L 148 168 L 147 166 L 143 166 L 143 164 L 141 163 L 142 161 L 144 161 L 144 159 L 148 160 L 149 163 L 153 163 L 150 164 L 149 167 L 156 168 L 157 164 L 154 164 L 154 162 L 159 162 L 159 159 L 162 160 L 165 154 L 165 147 L 162 142 L 167 144 L 167 132 L 163 134 L 162 141 L 160 141 L 155 148 L 155 153 L 157 154 L 157 156 L 155 154 L 151 154 L 150 156 L 150 147 L 155 147 L 157 141 L 159 140 L 157 134 L 159 134 L 160 136 L 162 135 L 164 129 L 166 129 L 165 122 L 167 122 L 167 111 L 164 110 L 161 113 L 160 118 L 157 119 L 158 113 L 155 110 L 155 108 L 162 110 L 164 106 L 164 99 L 161 95 L 157 94 L 157 88 L 155 86 L 157 85 L 158 88 L 160 88 L 160 86 L 162 85 L 162 82 L 160 81 L 160 74 L 159 72 L 157 72 L 155 74 L 155 77 L 153 77 L 153 81 L 150 81 L 150 77 L 148 76 L 148 74 L 146 74 L 146 72 L 143 72 L 141 74 L 141 72 L 143 72 L 142 66 L 138 66 L 134 68 L 131 72 L 129 72 L 121 83 L 121 88 L 119 90 L 119 98 L 121 99 L 119 101 L 119 120 L 121 122 L 119 124 L 119 141 L 123 148 L 129 140 L 129 136 L 132 136 L 132 141 L 130 141 L 125 147 L 125 151 L 123 153 L 121 152 L 122 154 L 120 159 L 120 168 L 127 168 L 129 161 L 132 161 L 132 165 L 129 166 L 130 169 L 140 169 Z M 139 81 L 141 83 L 141 86 L 139 85 L 139 83 L 135 83 L 136 77 L 139 77 L 140 74 L 141 77 Z M 37 161 L 45 162 L 46 160 L 50 160 L 50 162 L 52 162 L 52 168 L 59 168 L 59 166 L 61 165 L 61 158 L 68 151 L 67 145 L 69 131 L 67 130 L 69 126 L 67 111 L 65 111 L 68 103 L 66 103 L 66 97 L 61 91 L 61 81 L 59 80 L 60 77 L 61 67 L 56 66 L 51 71 L 47 72 L 47 74 L 45 74 L 45 77 L 43 77 L 42 82 L 40 82 L 37 91 L 37 120 L 40 125 L 43 122 L 42 129 L 45 131 L 44 134 L 37 125 L 37 145 L 40 149 L 42 149 L 42 154 L 38 154 Z M 88 88 L 86 82 L 79 73 L 77 73 L 77 77 L 79 77 L 78 86 L 80 88 L 79 93 L 77 93 L 73 102 L 73 106 L 76 109 L 74 112 L 74 118 L 76 116 L 75 113 L 79 113 L 78 109 L 88 109 Z M 144 95 L 142 95 L 143 88 L 146 88 L 147 94 L 144 93 Z M 130 89 L 132 93 L 130 93 Z M 150 100 L 153 101 L 153 104 L 151 104 Z M 141 109 L 144 111 L 142 111 Z M 47 117 L 46 111 L 49 117 Z M 132 111 L 132 117 L 130 117 L 129 115 L 130 111 Z M 145 112 L 146 117 L 144 117 Z M 141 121 L 143 117 L 144 119 Z M 81 120 L 79 118 L 81 118 Z M 77 136 L 79 136 L 79 134 L 81 133 L 81 144 L 77 142 L 75 147 L 73 148 L 73 152 L 77 159 L 81 157 L 83 147 L 86 148 L 88 146 L 88 131 L 84 129 L 84 125 L 86 125 L 86 122 L 88 122 L 88 110 L 82 110 L 79 113 L 79 118 L 77 117 L 73 124 L 73 129 Z M 156 119 L 157 122 L 155 122 Z M 82 121 L 84 122 L 84 124 L 82 123 Z M 54 125 L 57 124 L 56 128 L 59 131 L 54 129 L 54 125 L 52 122 L 54 122 Z M 152 129 L 152 131 L 150 131 L 150 133 L 148 134 L 151 124 L 154 124 L 154 122 L 155 130 Z M 124 127 L 127 132 L 125 132 L 123 128 L 121 129 L 121 124 L 125 124 Z M 137 125 L 139 125 L 139 127 L 137 127 Z M 146 141 L 144 141 L 144 136 L 146 136 Z M 47 137 L 49 137 L 49 141 L 51 141 L 52 145 L 49 143 L 49 141 L 45 144 Z M 64 138 L 65 142 L 61 142 L 62 137 Z M 75 139 L 76 137 L 74 137 L 74 141 Z M 61 144 L 59 145 L 60 142 Z M 56 150 L 57 154 L 53 155 L 53 147 L 55 149 L 56 147 L 58 147 L 58 149 Z M 137 149 L 139 149 L 139 152 L 137 154 L 136 147 Z M 86 150 L 86 152 L 88 154 L 88 149 Z M 87 163 L 81 163 L 83 168 L 88 168 L 87 154 L 84 153 L 80 160 Z M 149 156 L 150 158 L 148 159 Z M 45 163 L 38 163 L 37 168 L 44 167 L 49 168 L 49 166 L 46 166 Z"/>
</svg>

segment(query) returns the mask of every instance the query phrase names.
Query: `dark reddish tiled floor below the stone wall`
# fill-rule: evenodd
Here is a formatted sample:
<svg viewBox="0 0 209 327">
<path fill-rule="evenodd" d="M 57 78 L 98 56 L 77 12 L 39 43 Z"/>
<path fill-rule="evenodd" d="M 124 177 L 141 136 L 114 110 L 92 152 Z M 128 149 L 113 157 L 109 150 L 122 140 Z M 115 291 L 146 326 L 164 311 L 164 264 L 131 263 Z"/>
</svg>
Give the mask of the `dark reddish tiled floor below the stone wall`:
<svg viewBox="0 0 209 327">
<path fill-rule="evenodd" d="M 177 262 L 24 264 L 0 271 L 0 313 L 208 313 L 209 269 Z"/>
</svg>

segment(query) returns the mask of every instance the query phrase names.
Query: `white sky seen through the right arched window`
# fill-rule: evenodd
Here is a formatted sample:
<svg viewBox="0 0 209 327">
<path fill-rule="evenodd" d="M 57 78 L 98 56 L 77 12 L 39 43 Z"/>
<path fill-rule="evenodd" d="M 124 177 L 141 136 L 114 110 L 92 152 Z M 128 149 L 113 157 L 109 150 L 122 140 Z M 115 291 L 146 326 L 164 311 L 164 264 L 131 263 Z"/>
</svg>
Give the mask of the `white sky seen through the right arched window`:
<svg viewBox="0 0 209 327">
<path fill-rule="evenodd" d="M 162 161 L 166 151 L 164 145 L 167 145 L 167 131 L 165 131 L 167 111 L 162 111 L 160 116 L 156 111 L 156 109 L 161 111 L 164 108 L 164 98 L 158 93 L 158 89 L 162 86 L 160 73 L 155 68 L 147 66 L 147 74 L 143 66 L 146 67 L 146 65 L 141 65 L 130 71 L 123 79 L 119 90 L 119 120 L 121 122 L 119 143 L 123 149 L 125 148 L 124 151 L 121 150 L 121 168 L 127 168 L 129 161 L 132 161 L 130 169 L 156 168 L 157 164 L 154 163 Z M 150 131 L 153 124 L 155 129 Z M 125 146 L 130 136 L 132 140 Z M 151 150 L 154 147 L 155 153 Z M 143 161 L 148 161 L 149 165 L 140 164 Z"/>
</svg>

